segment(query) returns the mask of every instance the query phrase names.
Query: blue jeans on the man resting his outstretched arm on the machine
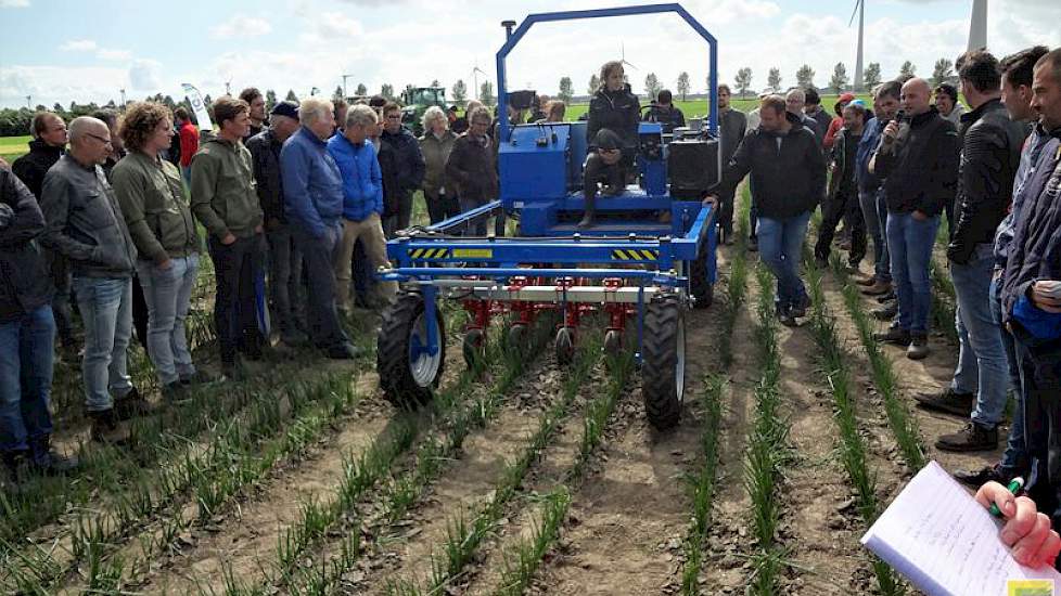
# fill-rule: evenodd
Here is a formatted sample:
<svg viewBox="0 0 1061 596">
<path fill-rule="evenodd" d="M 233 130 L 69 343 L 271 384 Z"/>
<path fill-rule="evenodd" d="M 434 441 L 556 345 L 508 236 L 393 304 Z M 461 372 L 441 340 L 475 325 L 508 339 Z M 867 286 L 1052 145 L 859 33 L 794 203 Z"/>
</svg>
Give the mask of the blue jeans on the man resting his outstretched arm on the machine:
<svg viewBox="0 0 1061 596">
<path fill-rule="evenodd" d="M 784 219 L 758 217 L 759 258 L 778 280 L 780 309 L 795 306 L 807 295 L 798 267 L 809 220 L 810 211 Z"/>
</svg>

